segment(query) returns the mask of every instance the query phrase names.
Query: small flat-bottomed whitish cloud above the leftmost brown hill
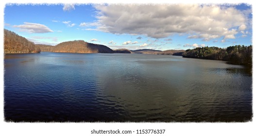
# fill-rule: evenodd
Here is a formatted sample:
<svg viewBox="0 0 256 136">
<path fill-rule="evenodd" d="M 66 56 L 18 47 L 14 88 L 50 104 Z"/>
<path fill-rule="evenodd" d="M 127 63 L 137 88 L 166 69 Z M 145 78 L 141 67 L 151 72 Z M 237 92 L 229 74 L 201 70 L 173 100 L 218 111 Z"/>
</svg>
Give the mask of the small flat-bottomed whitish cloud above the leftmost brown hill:
<svg viewBox="0 0 256 136">
<path fill-rule="evenodd" d="M 50 28 L 43 24 L 37 24 L 37 23 L 29 23 L 24 22 L 23 25 L 14 25 L 13 27 L 17 27 L 20 29 L 20 31 L 28 32 L 28 33 L 49 33 L 53 32 Z"/>
</svg>

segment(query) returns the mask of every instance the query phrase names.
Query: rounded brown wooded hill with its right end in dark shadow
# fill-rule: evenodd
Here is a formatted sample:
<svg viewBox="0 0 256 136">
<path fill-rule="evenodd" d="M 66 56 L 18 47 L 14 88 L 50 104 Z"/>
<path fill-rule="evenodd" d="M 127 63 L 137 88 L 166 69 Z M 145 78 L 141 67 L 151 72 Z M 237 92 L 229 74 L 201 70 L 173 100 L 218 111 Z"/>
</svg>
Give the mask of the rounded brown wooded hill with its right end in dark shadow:
<svg viewBox="0 0 256 136">
<path fill-rule="evenodd" d="M 114 53 L 114 51 L 104 45 L 87 43 L 83 40 L 62 42 L 54 46 L 52 52 L 70 53 Z"/>
</svg>

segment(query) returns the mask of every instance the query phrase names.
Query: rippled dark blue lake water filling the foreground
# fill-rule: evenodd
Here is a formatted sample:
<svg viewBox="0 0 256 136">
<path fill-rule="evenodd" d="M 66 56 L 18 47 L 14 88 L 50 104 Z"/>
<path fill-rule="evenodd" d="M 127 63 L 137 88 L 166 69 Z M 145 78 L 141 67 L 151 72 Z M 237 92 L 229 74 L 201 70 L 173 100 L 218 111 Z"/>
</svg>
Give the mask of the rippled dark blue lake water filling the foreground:
<svg viewBox="0 0 256 136">
<path fill-rule="evenodd" d="M 249 121 L 250 68 L 151 54 L 5 54 L 6 121 Z"/>
</svg>

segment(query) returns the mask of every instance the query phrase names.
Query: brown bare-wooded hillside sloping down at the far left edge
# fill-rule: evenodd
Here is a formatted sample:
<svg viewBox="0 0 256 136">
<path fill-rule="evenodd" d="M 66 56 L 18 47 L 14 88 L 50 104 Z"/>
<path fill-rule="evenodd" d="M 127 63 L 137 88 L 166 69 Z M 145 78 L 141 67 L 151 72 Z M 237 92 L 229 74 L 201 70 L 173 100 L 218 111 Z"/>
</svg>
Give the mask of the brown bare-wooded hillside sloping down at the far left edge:
<svg viewBox="0 0 256 136">
<path fill-rule="evenodd" d="M 12 31 L 4 29 L 4 53 L 37 52 L 40 52 L 40 48 L 36 48 L 34 42 L 31 42 Z"/>
</svg>

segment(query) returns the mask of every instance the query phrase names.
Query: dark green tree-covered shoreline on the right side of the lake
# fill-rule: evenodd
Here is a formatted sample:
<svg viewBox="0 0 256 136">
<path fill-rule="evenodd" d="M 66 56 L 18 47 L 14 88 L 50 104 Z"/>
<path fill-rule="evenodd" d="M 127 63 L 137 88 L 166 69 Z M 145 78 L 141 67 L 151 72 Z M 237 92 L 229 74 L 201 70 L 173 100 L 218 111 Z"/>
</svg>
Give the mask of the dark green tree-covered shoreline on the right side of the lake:
<svg viewBox="0 0 256 136">
<path fill-rule="evenodd" d="M 186 50 L 182 56 L 187 58 L 201 58 L 224 60 L 239 65 L 252 65 L 252 45 L 229 46 L 226 49 L 218 47 L 198 47 Z"/>
</svg>

